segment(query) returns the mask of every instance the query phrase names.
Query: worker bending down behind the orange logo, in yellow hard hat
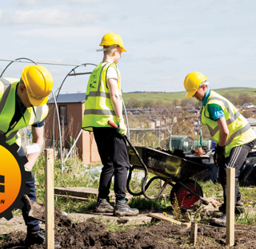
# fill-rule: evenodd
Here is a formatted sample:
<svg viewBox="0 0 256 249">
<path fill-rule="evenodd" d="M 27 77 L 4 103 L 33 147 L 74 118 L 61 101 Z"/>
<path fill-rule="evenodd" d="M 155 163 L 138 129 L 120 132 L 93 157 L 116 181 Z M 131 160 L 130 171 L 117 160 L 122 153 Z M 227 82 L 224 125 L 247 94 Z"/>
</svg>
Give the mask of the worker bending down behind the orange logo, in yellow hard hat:
<svg viewBox="0 0 256 249">
<path fill-rule="evenodd" d="M 44 119 L 48 114 L 48 95 L 53 88 L 53 79 L 49 71 L 42 65 L 27 65 L 22 70 L 20 81 L 11 82 L 6 78 L 0 78 L 0 132 L 6 136 L 7 144 L 18 144 L 18 156 L 26 156 L 21 147 L 21 136 L 18 133 L 20 128 L 32 126 L 33 136 L 30 153 L 25 164 L 26 171 L 32 170 L 38 156 L 42 151 Z M 28 197 L 37 201 L 35 195 L 34 175 L 26 180 L 26 187 L 30 188 Z M 39 220 L 30 217 L 30 207 L 26 204 L 22 207 L 22 215 L 27 227 L 25 246 L 30 247 L 34 243 L 45 243 L 45 234 L 39 227 Z"/>
</svg>

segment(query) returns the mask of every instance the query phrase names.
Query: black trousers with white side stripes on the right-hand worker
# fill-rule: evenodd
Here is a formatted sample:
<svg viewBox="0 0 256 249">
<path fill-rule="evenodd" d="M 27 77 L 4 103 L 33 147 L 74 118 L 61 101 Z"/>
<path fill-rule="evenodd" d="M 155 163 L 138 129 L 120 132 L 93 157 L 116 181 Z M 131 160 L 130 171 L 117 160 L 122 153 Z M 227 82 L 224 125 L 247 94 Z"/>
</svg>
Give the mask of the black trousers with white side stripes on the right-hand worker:
<svg viewBox="0 0 256 249">
<path fill-rule="evenodd" d="M 250 150 L 254 148 L 254 144 L 256 144 L 256 140 L 253 140 L 248 144 L 244 144 L 244 145 L 232 148 L 230 152 L 230 156 L 226 157 L 226 160 L 222 161 L 222 163 L 219 165 L 219 178 L 223 188 L 224 208 L 225 208 L 224 210 L 226 210 L 226 168 L 235 168 L 234 204 L 236 204 L 238 200 L 241 200 L 241 193 L 239 192 L 239 189 L 238 189 L 238 178 L 240 176 L 242 164 L 246 160 L 246 156 L 248 155 Z"/>
</svg>

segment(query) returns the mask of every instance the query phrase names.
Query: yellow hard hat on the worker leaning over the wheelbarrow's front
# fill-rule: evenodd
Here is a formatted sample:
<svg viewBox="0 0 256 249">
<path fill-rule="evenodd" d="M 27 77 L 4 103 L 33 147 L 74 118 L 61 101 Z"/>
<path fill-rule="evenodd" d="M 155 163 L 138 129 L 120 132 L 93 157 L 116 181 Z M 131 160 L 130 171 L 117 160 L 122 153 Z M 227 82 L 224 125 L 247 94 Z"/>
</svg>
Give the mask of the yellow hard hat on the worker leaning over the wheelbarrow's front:
<svg viewBox="0 0 256 249">
<path fill-rule="evenodd" d="M 186 89 L 186 97 L 193 97 L 194 93 L 199 88 L 202 82 L 205 82 L 207 77 L 202 73 L 193 72 L 189 73 L 184 80 L 184 87 Z"/>
</svg>

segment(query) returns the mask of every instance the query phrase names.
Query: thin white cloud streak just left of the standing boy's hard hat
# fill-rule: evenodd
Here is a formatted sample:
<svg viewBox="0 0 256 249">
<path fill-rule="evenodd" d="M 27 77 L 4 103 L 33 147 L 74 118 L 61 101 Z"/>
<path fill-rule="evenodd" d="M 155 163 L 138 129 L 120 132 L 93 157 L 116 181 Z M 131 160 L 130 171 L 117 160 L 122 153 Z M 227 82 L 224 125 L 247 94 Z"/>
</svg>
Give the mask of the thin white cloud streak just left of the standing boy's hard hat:
<svg viewBox="0 0 256 249">
<path fill-rule="evenodd" d="M 22 36 L 31 36 L 38 38 L 98 38 L 102 37 L 102 34 L 106 30 L 99 27 L 61 27 L 61 28 L 49 28 L 49 29 L 31 29 L 31 30 L 19 30 L 17 34 Z"/>
</svg>

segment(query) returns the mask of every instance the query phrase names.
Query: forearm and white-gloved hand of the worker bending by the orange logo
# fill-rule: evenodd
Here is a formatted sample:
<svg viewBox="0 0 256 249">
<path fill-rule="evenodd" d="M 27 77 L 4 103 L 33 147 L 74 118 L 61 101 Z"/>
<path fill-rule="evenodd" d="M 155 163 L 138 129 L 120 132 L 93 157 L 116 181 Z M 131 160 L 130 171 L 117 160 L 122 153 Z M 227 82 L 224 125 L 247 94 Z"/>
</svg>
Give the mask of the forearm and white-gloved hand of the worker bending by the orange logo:
<svg viewBox="0 0 256 249">
<path fill-rule="evenodd" d="M 33 140 L 33 143 L 36 143 L 39 145 L 40 152 L 34 152 L 27 156 L 28 162 L 25 164 L 25 167 L 28 168 L 29 170 L 32 170 L 32 168 L 34 167 L 34 164 L 38 160 L 38 156 L 41 154 L 42 144 L 43 144 L 43 129 L 44 129 L 44 126 L 41 126 L 41 127 L 32 126 L 32 131 L 34 131 L 32 133 L 33 135 L 32 140 Z"/>
</svg>

